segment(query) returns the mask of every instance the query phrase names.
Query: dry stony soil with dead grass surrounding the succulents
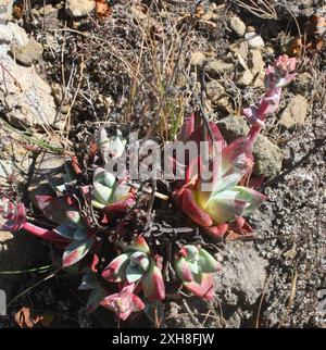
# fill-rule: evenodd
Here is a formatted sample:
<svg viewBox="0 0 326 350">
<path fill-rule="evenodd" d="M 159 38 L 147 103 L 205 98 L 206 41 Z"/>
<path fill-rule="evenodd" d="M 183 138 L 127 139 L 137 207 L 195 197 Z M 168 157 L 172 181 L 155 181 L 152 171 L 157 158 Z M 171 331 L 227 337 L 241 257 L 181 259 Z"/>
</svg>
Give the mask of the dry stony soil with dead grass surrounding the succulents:
<svg viewBox="0 0 326 350">
<path fill-rule="evenodd" d="M 86 9 L 90 0 L 79 2 Z M 28 52 L 21 60 L 25 65 L 33 60 L 33 68 L 50 85 L 58 122 L 51 133 L 54 140 L 64 137 L 65 147 L 76 153 L 108 122 L 124 132 L 174 137 L 180 116 L 198 103 L 192 92 L 199 90 L 203 66 L 206 108 L 222 125 L 231 117 L 229 129 L 222 126 L 225 134 L 231 130 L 225 135 L 231 139 L 241 134 L 241 110 L 263 92 L 264 65 L 283 53 L 298 59 L 297 79 L 285 88 L 280 110 L 263 132 L 269 143 L 256 151 L 255 172 L 265 176 L 261 191 L 267 200 L 250 217 L 255 239 L 221 245 L 225 273 L 216 277 L 216 299 L 205 303 L 190 298 L 186 304 L 166 300 L 163 326 L 326 326 L 326 3 L 262 2 L 204 0 L 192 13 L 190 0 L 116 0 L 105 11 L 98 4 L 84 9 L 82 16 L 70 15 L 64 1 L 14 2 L 10 21 L 42 46 L 37 59 L 33 49 L 32 59 Z M 244 33 L 251 32 L 263 43 L 255 39 L 248 46 Z M 162 87 L 168 93 L 160 110 Z M 27 116 L 23 122 L 8 117 L 8 105 L 1 103 L 1 117 L 20 129 Z M 47 134 L 45 125 L 30 123 Z M 23 173 L 30 182 L 33 174 Z M 1 271 L 49 264 L 48 243 L 35 246 L 35 239 L 24 237 L 27 241 L 20 243 L 18 238 L 15 247 L 3 235 Z M 23 257 L 17 257 L 22 245 Z M 30 259 L 34 247 L 42 253 Z M 5 265 L 7 257 L 11 263 Z M 0 275 L 0 288 L 1 280 L 10 284 L 14 298 L 43 276 Z M 103 310 L 86 314 L 87 293 L 77 291 L 78 282 L 68 276 L 59 275 L 16 298 L 0 326 L 15 327 L 13 314 L 23 305 L 54 314 L 54 326 L 116 326 Z M 140 324 L 149 325 L 146 320 Z"/>
</svg>

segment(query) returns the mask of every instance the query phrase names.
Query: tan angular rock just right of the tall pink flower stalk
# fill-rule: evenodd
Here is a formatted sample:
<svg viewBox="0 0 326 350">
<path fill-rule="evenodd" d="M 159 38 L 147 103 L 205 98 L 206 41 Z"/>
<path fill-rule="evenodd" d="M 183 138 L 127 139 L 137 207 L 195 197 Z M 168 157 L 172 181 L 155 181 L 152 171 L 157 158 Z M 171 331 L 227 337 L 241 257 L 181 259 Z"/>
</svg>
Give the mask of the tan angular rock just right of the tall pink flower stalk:
<svg viewBox="0 0 326 350">
<path fill-rule="evenodd" d="M 308 100 L 301 96 L 294 96 L 280 115 L 279 124 L 286 128 L 296 125 L 304 125 L 308 113 Z"/>
</svg>

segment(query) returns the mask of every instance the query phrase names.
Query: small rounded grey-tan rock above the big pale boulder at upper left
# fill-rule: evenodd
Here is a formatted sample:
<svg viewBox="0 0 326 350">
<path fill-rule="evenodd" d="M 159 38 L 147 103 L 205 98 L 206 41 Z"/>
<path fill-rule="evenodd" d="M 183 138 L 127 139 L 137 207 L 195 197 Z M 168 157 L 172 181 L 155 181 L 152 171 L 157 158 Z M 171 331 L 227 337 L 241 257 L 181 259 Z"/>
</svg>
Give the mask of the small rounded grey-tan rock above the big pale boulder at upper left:
<svg viewBox="0 0 326 350">
<path fill-rule="evenodd" d="M 32 65 L 40 59 L 43 48 L 39 42 L 32 39 L 25 46 L 11 45 L 10 51 L 12 57 L 21 64 Z"/>
</svg>

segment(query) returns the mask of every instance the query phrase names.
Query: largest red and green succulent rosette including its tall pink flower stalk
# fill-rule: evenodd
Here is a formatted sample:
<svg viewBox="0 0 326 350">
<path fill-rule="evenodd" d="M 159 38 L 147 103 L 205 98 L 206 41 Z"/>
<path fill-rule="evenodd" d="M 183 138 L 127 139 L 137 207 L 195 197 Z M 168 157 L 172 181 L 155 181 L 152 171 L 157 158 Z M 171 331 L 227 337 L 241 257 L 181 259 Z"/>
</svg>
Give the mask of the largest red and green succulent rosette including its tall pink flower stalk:
<svg viewBox="0 0 326 350">
<path fill-rule="evenodd" d="M 249 177 L 254 164 L 253 143 L 266 116 L 277 111 L 283 87 L 296 77 L 296 74 L 291 73 L 294 68 L 296 59 L 287 55 L 279 57 L 273 66 L 269 65 L 266 68 L 265 95 L 258 107 L 251 105 L 242 111 L 252 126 L 247 136 L 229 145 L 226 145 L 215 123 L 210 122 L 209 125 L 202 124 L 196 128 L 193 114 L 185 122 L 180 140 L 195 141 L 198 149 L 202 141 L 211 142 L 209 155 L 213 160 L 216 154 L 213 153 L 212 141 L 216 142 L 220 146 L 217 150 L 220 161 L 212 161 L 214 176 L 212 176 L 211 190 L 202 190 L 201 159 L 189 162 L 186 179 L 174 192 L 174 198 L 181 211 L 213 237 L 223 237 L 229 228 L 239 234 L 251 230 L 244 216 L 265 200 L 265 196 L 254 188 L 243 186 L 244 180 L 250 183 Z"/>
</svg>

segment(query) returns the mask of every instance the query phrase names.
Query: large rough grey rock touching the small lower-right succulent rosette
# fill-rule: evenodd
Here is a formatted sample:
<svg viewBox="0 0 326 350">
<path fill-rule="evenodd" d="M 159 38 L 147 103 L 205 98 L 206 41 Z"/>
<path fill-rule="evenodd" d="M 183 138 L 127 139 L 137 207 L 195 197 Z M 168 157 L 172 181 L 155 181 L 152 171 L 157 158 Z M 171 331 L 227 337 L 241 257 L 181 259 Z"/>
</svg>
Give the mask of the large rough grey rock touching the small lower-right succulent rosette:
<svg viewBox="0 0 326 350">
<path fill-rule="evenodd" d="M 241 305 L 254 304 L 262 293 L 267 265 L 253 243 L 226 245 L 222 272 L 214 275 L 216 292 L 231 296 L 226 298 L 230 304 L 239 301 Z"/>
</svg>

